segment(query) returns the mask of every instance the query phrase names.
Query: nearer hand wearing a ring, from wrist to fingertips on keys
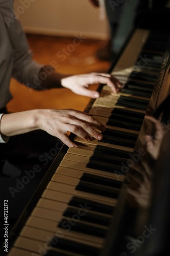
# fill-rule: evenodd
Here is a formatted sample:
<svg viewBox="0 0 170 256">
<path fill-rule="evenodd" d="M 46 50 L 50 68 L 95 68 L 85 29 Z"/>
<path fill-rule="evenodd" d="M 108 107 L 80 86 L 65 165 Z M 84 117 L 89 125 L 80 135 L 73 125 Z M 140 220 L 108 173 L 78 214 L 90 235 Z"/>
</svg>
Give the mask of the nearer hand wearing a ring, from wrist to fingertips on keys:
<svg viewBox="0 0 170 256">
<path fill-rule="evenodd" d="M 67 132 L 90 141 L 91 137 L 101 140 L 99 131 L 105 131 L 105 126 L 91 115 L 75 110 L 38 110 L 38 128 L 62 140 L 69 147 L 77 147 L 67 137 Z"/>
</svg>

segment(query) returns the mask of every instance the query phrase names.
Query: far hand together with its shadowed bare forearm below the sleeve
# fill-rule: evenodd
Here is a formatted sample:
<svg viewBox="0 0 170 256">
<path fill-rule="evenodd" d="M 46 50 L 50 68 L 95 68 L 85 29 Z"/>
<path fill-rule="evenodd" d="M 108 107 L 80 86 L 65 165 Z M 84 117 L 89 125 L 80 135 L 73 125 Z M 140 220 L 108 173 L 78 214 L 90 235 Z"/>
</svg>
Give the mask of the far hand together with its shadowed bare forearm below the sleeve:
<svg viewBox="0 0 170 256">
<path fill-rule="evenodd" d="M 122 83 L 110 74 L 89 73 L 80 75 L 66 75 L 55 72 L 51 66 L 44 66 L 40 69 L 39 77 L 36 79 L 35 89 L 47 90 L 52 88 L 67 88 L 72 92 L 88 96 L 90 98 L 98 98 L 99 93 L 88 90 L 90 84 L 107 84 L 113 93 L 117 93 L 122 89 Z"/>
</svg>

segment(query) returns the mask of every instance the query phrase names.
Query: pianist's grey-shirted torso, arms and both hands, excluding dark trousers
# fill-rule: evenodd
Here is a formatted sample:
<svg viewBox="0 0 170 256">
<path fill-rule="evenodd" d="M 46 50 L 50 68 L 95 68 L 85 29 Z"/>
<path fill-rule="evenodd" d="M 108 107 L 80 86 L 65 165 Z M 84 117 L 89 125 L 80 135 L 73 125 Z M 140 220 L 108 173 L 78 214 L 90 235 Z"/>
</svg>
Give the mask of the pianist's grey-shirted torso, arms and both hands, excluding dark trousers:
<svg viewBox="0 0 170 256">
<path fill-rule="evenodd" d="M 35 62 L 26 35 L 15 18 L 13 2 L 0 0 L 0 30 L 3 35 L 0 43 L 0 113 L 7 113 L 6 105 L 11 99 L 9 92 L 11 77 L 37 90 L 65 87 L 76 94 L 91 98 L 99 97 L 98 92 L 88 90 L 88 86 L 93 83 L 107 83 L 113 92 L 119 90 L 120 83 L 109 74 L 63 75 L 57 73 L 51 66 L 43 67 Z M 4 115 L 1 122 L 1 132 L 6 136 L 41 129 L 58 137 L 68 146 L 76 145 L 67 138 L 67 131 L 85 139 L 90 139 L 90 136 L 102 138 L 99 132 L 90 127 L 94 125 L 100 130 L 103 129 L 102 125 L 87 114 L 77 111 L 33 110 Z M 1 138 L 0 142 L 2 141 Z"/>
</svg>

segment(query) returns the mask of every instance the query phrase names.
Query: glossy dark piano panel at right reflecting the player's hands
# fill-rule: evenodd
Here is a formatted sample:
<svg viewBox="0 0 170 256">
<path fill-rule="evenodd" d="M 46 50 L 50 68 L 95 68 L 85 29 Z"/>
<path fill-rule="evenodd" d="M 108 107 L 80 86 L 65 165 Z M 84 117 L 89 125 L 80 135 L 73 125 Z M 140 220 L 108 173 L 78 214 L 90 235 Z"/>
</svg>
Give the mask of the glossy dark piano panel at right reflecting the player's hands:
<svg viewBox="0 0 170 256">
<path fill-rule="evenodd" d="M 163 63 L 100 255 L 160 256 L 169 247 L 169 54 Z"/>
</svg>

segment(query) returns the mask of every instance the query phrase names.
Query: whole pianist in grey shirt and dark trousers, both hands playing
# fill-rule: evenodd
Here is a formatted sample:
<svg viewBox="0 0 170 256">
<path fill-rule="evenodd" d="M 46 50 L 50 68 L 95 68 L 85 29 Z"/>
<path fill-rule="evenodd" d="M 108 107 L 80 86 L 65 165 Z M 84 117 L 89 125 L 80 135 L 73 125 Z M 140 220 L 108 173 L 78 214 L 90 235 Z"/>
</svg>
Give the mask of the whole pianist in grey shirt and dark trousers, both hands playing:
<svg viewBox="0 0 170 256">
<path fill-rule="evenodd" d="M 6 105 L 12 98 L 11 77 L 37 90 L 65 87 L 91 98 L 99 97 L 98 92 L 88 90 L 92 83 L 107 83 L 113 92 L 121 87 L 109 74 L 63 75 L 51 66 L 44 67 L 34 61 L 26 35 L 15 17 L 13 3 L 14 0 L 0 0 L 0 194 L 1 200 L 9 200 L 9 230 L 59 152 L 61 142 L 77 147 L 67 137 L 67 132 L 85 140 L 91 140 L 91 137 L 101 140 L 100 131 L 105 129 L 92 116 L 76 110 L 38 109 L 8 113 Z M 12 137 L 9 139 L 9 136 Z M 41 172 L 13 197 L 9 187 L 15 188 L 17 181 L 37 165 Z M 1 200 L 0 224 L 3 221 Z"/>
</svg>

